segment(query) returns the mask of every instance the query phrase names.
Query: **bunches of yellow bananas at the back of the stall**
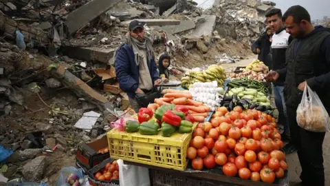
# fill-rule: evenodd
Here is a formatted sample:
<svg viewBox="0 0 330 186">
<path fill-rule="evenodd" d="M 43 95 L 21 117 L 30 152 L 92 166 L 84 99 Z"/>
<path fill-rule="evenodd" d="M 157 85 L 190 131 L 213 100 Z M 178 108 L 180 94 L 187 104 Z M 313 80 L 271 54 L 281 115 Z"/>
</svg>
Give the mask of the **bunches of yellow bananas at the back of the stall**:
<svg viewBox="0 0 330 186">
<path fill-rule="evenodd" d="M 217 81 L 217 85 L 221 87 L 225 82 L 225 69 L 221 65 L 210 65 L 207 70 L 186 72 L 186 76 L 181 78 L 181 87 L 188 89 L 196 82 L 212 82 Z"/>
</svg>

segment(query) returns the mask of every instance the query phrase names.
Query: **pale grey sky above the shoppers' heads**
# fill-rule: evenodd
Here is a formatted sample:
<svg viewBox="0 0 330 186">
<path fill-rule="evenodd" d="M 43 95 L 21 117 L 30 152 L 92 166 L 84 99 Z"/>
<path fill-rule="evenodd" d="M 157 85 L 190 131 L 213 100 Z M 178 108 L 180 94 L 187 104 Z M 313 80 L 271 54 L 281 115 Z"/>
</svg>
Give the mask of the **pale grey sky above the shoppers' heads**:
<svg viewBox="0 0 330 186">
<path fill-rule="evenodd" d="M 330 18 L 330 0 L 271 0 L 276 3 L 276 8 L 281 8 L 282 12 L 290 6 L 300 5 L 311 14 L 311 19 L 323 19 L 323 16 Z"/>
</svg>

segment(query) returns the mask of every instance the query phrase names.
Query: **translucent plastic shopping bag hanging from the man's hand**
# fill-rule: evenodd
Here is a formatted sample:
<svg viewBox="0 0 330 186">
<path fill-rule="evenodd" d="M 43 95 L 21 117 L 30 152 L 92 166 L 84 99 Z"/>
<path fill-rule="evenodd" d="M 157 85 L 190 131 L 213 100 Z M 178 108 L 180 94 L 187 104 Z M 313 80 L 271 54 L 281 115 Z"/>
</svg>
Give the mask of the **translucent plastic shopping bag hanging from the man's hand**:
<svg viewBox="0 0 330 186">
<path fill-rule="evenodd" d="M 307 85 L 303 98 L 297 108 L 297 123 L 300 127 L 311 132 L 329 132 L 329 114 L 325 110 L 318 94 Z"/>
</svg>

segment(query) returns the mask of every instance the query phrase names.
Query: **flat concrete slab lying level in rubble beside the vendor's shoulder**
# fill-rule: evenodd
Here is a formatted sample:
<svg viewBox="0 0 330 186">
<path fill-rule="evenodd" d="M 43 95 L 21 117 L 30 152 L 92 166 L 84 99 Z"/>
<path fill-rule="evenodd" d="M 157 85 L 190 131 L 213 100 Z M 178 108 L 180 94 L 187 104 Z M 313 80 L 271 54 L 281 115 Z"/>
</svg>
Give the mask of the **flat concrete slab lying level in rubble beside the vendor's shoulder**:
<svg viewBox="0 0 330 186">
<path fill-rule="evenodd" d="M 115 49 L 113 48 L 97 48 L 97 47 L 64 47 L 63 53 L 70 58 L 80 59 L 84 61 L 98 61 L 109 63 L 109 59 L 113 57 Z"/>
</svg>

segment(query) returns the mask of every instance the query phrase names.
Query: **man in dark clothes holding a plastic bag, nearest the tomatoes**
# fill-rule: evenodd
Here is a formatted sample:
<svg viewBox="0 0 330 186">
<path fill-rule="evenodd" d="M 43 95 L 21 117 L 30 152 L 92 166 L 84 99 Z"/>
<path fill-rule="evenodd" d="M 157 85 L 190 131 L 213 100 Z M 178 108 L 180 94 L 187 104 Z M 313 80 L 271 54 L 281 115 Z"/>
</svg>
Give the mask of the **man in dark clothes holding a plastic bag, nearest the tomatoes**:
<svg viewBox="0 0 330 186">
<path fill-rule="evenodd" d="M 301 6 L 289 8 L 283 22 L 294 38 L 287 48 L 286 67 L 269 72 L 266 79 L 285 79 L 285 105 L 303 185 L 323 186 L 322 143 L 330 113 L 330 28 L 314 28 Z"/>
</svg>

